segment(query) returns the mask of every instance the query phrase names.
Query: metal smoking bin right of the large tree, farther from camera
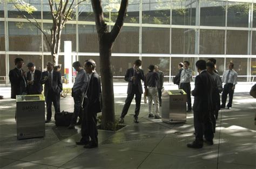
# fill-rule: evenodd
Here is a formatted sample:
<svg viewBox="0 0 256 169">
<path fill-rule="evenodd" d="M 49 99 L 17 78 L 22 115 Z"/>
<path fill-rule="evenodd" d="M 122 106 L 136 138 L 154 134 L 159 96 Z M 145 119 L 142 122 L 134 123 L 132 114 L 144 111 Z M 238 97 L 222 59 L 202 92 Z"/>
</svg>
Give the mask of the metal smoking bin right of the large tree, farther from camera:
<svg viewBox="0 0 256 169">
<path fill-rule="evenodd" d="M 183 89 L 165 90 L 162 94 L 161 116 L 165 123 L 186 122 L 187 94 Z"/>
</svg>

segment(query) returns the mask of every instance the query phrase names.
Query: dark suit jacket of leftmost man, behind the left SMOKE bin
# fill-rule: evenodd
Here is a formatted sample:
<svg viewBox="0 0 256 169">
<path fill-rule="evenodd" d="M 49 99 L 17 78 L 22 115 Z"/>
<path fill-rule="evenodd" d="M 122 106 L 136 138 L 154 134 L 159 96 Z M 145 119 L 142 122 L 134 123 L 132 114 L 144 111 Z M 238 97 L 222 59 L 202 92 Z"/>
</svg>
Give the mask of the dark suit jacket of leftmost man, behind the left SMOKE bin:
<svg viewBox="0 0 256 169">
<path fill-rule="evenodd" d="M 9 79 L 11 81 L 11 98 L 16 99 L 16 95 L 26 93 L 26 77 L 24 76 L 23 79 L 22 73 L 18 68 L 14 68 L 9 72 Z"/>
</svg>

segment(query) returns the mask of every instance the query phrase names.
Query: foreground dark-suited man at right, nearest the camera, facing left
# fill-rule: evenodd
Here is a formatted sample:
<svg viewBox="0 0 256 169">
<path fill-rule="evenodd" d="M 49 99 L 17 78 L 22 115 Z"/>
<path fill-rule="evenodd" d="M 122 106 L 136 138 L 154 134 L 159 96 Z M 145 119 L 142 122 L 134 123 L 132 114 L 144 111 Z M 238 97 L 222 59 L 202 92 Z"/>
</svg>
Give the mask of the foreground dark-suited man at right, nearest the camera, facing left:
<svg viewBox="0 0 256 169">
<path fill-rule="evenodd" d="M 198 60 L 196 66 L 199 75 L 196 77 L 194 90 L 192 91 L 196 140 L 188 143 L 187 147 L 200 149 L 203 147 L 203 136 L 207 144 L 213 145 L 211 110 L 214 80 L 212 75 L 206 71 L 205 60 Z"/>
</svg>

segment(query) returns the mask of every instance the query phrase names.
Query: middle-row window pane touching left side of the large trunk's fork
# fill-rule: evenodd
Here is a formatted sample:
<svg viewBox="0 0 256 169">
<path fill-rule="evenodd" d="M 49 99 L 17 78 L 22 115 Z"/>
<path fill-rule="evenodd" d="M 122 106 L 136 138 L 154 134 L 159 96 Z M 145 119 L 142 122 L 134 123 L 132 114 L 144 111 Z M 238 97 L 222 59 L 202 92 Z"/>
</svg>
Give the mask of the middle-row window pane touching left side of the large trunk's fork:
<svg viewBox="0 0 256 169">
<path fill-rule="evenodd" d="M 78 25 L 79 52 L 99 52 L 98 34 L 95 25 Z"/>
</svg>

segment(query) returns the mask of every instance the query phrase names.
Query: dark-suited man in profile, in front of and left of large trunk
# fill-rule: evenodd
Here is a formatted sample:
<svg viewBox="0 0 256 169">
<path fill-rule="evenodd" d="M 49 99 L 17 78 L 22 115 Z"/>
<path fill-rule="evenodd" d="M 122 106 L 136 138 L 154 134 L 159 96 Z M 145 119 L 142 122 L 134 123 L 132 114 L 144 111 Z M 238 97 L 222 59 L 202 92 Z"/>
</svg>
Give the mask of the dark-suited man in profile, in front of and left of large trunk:
<svg viewBox="0 0 256 169">
<path fill-rule="evenodd" d="M 95 71 L 96 63 L 92 59 L 86 60 L 84 64 L 89 82 L 84 93 L 83 121 L 81 134 L 82 138 L 77 145 L 84 145 L 84 148 L 91 149 L 98 147 L 97 113 L 102 111 L 100 94 L 102 93 L 100 79 Z M 91 140 L 90 140 L 91 138 Z"/>
</svg>

